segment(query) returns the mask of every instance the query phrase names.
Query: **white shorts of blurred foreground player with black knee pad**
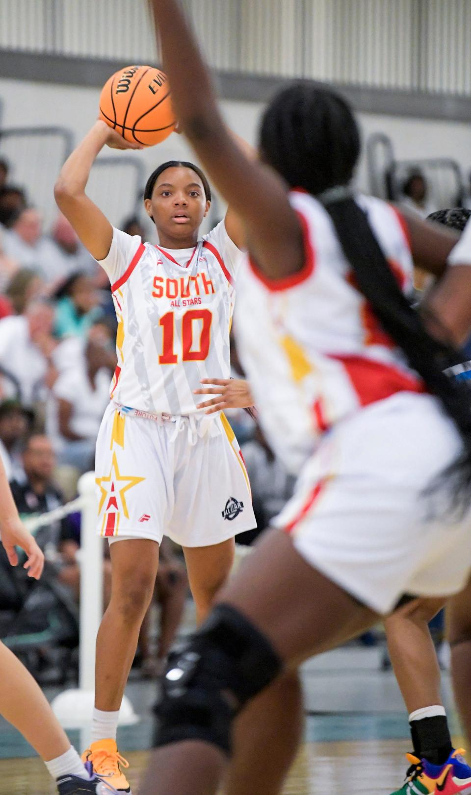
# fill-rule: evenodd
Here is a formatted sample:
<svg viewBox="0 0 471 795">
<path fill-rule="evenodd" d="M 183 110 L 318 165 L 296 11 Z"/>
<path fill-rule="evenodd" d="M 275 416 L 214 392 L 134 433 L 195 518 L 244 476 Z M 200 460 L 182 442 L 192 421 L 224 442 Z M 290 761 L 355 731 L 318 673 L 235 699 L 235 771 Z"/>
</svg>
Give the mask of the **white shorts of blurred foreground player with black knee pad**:
<svg viewBox="0 0 471 795">
<path fill-rule="evenodd" d="M 451 514 L 450 489 L 424 491 L 460 450 L 434 397 L 396 394 L 326 434 L 272 524 L 380 614 L 406 594 L 451 595 L 469 577 L 470 514 Z"/>
</svg>

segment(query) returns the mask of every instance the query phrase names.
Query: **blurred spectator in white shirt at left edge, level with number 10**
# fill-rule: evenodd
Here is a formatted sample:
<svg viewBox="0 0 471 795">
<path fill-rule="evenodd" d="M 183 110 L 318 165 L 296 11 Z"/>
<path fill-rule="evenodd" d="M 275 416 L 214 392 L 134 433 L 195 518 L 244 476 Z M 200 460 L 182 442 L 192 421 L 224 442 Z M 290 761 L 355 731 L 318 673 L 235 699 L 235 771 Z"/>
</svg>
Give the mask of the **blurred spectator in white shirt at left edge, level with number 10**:
<svg viewBox="0 0 471 795">
<path fill-rule="evenodd" d="M 26 406 L 45 399 L 45 388 L 53 386 L 56 378 L 53 319 L 53 306 L 37 300 L 23 315 L 0 320 L 0 386 L 4 397 L 20 397 Z"/>
</svg>

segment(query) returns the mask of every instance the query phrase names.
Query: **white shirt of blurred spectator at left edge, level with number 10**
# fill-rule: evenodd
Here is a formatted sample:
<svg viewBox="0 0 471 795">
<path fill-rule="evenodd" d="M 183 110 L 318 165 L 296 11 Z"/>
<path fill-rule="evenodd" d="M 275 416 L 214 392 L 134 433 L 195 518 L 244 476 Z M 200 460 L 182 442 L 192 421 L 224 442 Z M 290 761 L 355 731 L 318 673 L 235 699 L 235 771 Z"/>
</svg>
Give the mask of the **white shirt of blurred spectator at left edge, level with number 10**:
<svg viewBox="0 0 471 795">
<path fill-rule="evenodd" d="M 31 341 L 28 320 L 21 315 L 0 320 L 0 367 L 18 382 L 24 405 L 43 397 L 47 359 Z M 14 382 L 2 373 L 0 382 L 4 397 L 16 396 Z"/>
</svg>

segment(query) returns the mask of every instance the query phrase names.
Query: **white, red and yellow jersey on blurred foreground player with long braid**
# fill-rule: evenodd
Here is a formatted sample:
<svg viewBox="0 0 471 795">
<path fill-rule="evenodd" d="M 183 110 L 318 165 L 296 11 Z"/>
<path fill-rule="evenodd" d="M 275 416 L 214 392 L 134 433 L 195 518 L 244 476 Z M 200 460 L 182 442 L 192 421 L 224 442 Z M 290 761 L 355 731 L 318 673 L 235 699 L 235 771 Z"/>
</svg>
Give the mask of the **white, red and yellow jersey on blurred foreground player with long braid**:
<svg viewBox="0 0 471 795">
<path fill-rule="evenodd" d="M 298 472 L 333 424 L 373 401 L 423 387 L 356 289 L 325 208 L 301 191 L 291 192 L 290 201 L 304 229 L 305 265 L 274 281 L 247 259 L 237 285 L 235 332 L 267 439 Z M 357 201 L 404 292 L 410 291 L 413 263 L 402 216 L 383 201 Z"/>
</svg>

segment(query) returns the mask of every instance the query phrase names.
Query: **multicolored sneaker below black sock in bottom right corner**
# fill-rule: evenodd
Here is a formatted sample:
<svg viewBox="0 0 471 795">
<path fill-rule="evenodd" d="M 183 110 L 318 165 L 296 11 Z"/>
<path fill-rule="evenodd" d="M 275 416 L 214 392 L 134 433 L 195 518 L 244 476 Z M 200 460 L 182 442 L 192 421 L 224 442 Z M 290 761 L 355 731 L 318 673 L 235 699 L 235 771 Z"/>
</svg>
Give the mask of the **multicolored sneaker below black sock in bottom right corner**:
<svg viewBox="0 0 471 795">
<path fill-rule="evenodd" d="M 411 767 L 401 789 L 391 795 L 471 795 L 471 767 L 461 754 L 462 748 L 453 750 L 443 765 L 432 765 L 426 759 L 406 754 Z"/>
</svg>

